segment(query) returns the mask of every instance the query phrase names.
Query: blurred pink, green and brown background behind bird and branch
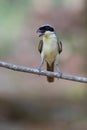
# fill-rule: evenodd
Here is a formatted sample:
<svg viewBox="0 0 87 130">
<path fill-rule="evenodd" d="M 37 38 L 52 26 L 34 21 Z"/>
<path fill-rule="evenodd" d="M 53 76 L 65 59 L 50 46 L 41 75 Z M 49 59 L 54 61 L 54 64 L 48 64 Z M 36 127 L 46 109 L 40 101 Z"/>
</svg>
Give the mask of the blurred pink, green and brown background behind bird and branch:
<svg viewBox="0 0 87 130">
<path fill-rule="evenodd" d="M 36 30 L 46 23 L 63 43 L 62 72 L 86 77 L 86 0 L 0 0 L 0 59 L 37 68 Z M 61 79 L 49 84 L 46 77 L 0 68 L 0 129 L 86 130 L 86 87 Z"/>
</svg>

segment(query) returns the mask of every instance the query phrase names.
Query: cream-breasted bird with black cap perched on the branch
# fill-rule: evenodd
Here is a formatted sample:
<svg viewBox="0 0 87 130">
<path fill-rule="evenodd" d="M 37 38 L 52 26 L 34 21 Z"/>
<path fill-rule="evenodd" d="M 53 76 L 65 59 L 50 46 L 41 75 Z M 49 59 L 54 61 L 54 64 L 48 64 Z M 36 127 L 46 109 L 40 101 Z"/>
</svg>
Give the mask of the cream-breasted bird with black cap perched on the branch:
<svg viewBox="0 0 87 130">
<path fill-rule="evenodd" d="M 54 72 L 55 65 L 57 71 L 62 74 L 58 66 L 58 57 L 62 52 L 62 42 L 59 40 L 54 27 L 50 24 L 44 24 L 36 30 L 36 33 L 39 33 L 39 37 L 41 37 L 38 45 L 38 51 L 41 54 L 39 71 L 41 71 L 45 61 L 47 71 Z M 47 81 L 54 82 L 54 77 L 47 76 Z"/>
</svg>

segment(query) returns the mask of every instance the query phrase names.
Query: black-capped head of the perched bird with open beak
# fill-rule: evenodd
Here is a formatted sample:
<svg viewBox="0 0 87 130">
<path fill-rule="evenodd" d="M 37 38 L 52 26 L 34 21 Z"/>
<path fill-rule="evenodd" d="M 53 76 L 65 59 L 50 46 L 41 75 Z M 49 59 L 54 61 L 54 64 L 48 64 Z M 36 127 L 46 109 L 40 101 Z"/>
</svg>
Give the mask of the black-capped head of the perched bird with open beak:
<svg viewBox="0 0 87 130">
<path fill-rule="evenodd" d="M 44 36 L 44 35 L 50 35 L 53 34 L 55 32 L 54 28 L 49 25 L 49 24 L 45 24 L 40 26 L 37 31 L 37 33 L 40 33 L 39 37 Z"/>
</svg>

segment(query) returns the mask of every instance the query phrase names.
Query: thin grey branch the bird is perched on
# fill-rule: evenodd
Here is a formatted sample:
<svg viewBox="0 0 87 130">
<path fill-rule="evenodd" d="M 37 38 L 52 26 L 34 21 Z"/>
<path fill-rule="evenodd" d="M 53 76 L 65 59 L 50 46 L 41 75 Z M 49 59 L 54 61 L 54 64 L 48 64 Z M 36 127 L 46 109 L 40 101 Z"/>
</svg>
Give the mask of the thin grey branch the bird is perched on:
<svg viewBox="0 0 87 130">
<path fill-rule="evenodd" d="M 19 71 L 19 72 L 38 74 L 38 75 L 43 75 L 43 76 L 52 76 L 55 78 L 60 78 L 60 79 L 65 79 L 65 80 L 87 83 L 87 78 L 85 78 L 85 77 L 78 77 L 78 76 L 67 75 L 67 74 L 60 75 L 59 73 L 49 72 L 49 71 L 39 72 L 38 69 L 14 65 L 14 64 L 7 63 L 7 62 L 3 62 L 3 61 L 0 61 L 0 67 L 4 67 L 4 68 L 11 69 L 14 71 Z"/>
</svg>

